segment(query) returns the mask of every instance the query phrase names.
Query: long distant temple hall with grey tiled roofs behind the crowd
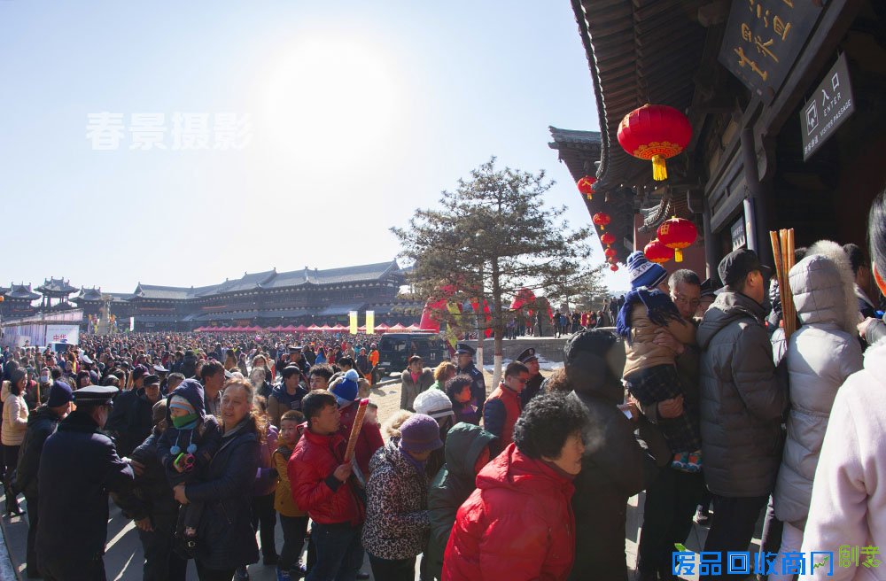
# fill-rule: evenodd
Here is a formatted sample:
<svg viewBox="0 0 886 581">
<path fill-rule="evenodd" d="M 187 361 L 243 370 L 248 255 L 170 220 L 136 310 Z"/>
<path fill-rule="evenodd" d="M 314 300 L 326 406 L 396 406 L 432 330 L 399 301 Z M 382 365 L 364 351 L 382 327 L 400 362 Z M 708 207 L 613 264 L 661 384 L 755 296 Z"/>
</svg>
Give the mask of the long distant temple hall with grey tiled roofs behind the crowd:
<svg viewBox="0 0 886 581">
<path fill-rule="evenodd" d="M 138 283 L 132 293 L 80 288 L 50 278 L 32 291 L 30 284 L 0 287 L 4 321 L 37 314 L 82 308 L 84 323 L 101 316 L 107 304 L 120 329 L 129 318 L 136 331 L 191 330 L 207 326 L 335 324 L 350 311 L 361 316 L 374 311 L 376 321 L 407 322 L 421 313 L 421 304 L 397 298 L 406 276 L 396 260 L 355 267 L 247 274 L 236 280 L 203 287 L 158 286 Z M 78 292 L 79 291 L 79 292 Z M 77 292 L 74 297 L 70 295 Z M 39 303 L 35 306 L 35 301 Z"/>
</svg>

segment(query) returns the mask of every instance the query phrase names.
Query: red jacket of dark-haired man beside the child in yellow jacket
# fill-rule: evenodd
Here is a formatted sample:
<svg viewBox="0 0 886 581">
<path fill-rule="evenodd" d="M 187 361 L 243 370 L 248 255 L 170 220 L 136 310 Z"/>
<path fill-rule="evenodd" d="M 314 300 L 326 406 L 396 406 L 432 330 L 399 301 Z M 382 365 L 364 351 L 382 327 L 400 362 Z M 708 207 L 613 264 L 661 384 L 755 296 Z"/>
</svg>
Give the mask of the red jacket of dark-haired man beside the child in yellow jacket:
<svg viewBox="0 0 886 581">
<path fill-rule="evenodd" d="M 357 500 L 354 478 L 342 483 L 332 473 L 344 462 L 347 438 L 343 430 L 320 436 L 307 429 L 295 445 L 286 472 L 292 499 L 311 519 L 321 524 L 363 522 L 364 509 Z"/>
</svg>

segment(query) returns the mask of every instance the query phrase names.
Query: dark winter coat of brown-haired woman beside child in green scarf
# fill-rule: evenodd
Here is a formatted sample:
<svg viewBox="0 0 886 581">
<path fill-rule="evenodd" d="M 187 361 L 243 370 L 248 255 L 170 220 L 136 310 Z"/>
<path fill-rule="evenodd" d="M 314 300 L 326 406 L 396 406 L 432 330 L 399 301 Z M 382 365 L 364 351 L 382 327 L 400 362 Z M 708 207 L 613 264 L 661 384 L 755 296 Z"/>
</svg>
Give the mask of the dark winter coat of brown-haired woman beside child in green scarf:
<svg viewBox="0 0 886 581">
<path fill-rule="evenodd" d="M 261 445 L 253 420 L 245 422 L 240 430 L 221 436 L 205 479 L 184 489 L 191 502 L 204 502 L 196 558 L 208 569 L 235 569 L 259 560 L 252 504 Z"/>
</svg>

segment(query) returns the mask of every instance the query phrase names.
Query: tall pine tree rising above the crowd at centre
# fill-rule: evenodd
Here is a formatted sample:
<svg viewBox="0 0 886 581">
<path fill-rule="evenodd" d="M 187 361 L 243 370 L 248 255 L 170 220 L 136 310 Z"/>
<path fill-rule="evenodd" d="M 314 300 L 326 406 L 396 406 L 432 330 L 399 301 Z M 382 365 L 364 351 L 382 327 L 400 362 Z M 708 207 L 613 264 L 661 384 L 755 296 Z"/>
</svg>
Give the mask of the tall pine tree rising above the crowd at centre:
<svg viewBox="0 0 886 581">
<path fill-rule="evenodd" d="M 475 302 L 480 336 L 493 329 L 494 385 L 501 377 L 502 339 L 512 316 L 510 297 L 526 287 L 551 303 L 591 294 L 602 287 L 599 270 L 589 266 L 589 227 L 569 229 L 565 207 L 549 208 L 545 193 L 554 185 L 541 170 L 495 168 L 493 157 L 443 191 L 436 209 L 418 209 L 408 228 L 392 228 L 401 256 L 414 267 L 416 291 L 431 300 Z M 462 323 L 440 309 L 439 318 Z M 480 363 L 482 365 L 482 363 Z"/>
</svg>

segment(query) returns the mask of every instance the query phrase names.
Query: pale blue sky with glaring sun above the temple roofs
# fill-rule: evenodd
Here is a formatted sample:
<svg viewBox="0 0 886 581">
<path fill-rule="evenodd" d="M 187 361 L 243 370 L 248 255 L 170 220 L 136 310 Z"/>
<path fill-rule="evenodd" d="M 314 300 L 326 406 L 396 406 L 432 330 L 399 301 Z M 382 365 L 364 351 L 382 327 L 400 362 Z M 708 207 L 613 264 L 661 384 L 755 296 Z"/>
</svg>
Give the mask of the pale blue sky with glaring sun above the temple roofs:
<svg viewBox="0 0 886 581">
<path fill-rule="evenodd" d="M 390 260 L 388 228 L 491 155 L 546 169 L 549 202 L 589 220 L 548 148 L 548 125 L 597 129 L 566 0 L 4 0 L 0 78 L 3 284 Z M 100 112 L 123 114 L 118 149 L 87 137 Z M 242 149 L 175 149 L 176 112 L 235 113 Z M 167 150 L 129 149 L 139 113 L 165 115 Z"/>
</svg>

